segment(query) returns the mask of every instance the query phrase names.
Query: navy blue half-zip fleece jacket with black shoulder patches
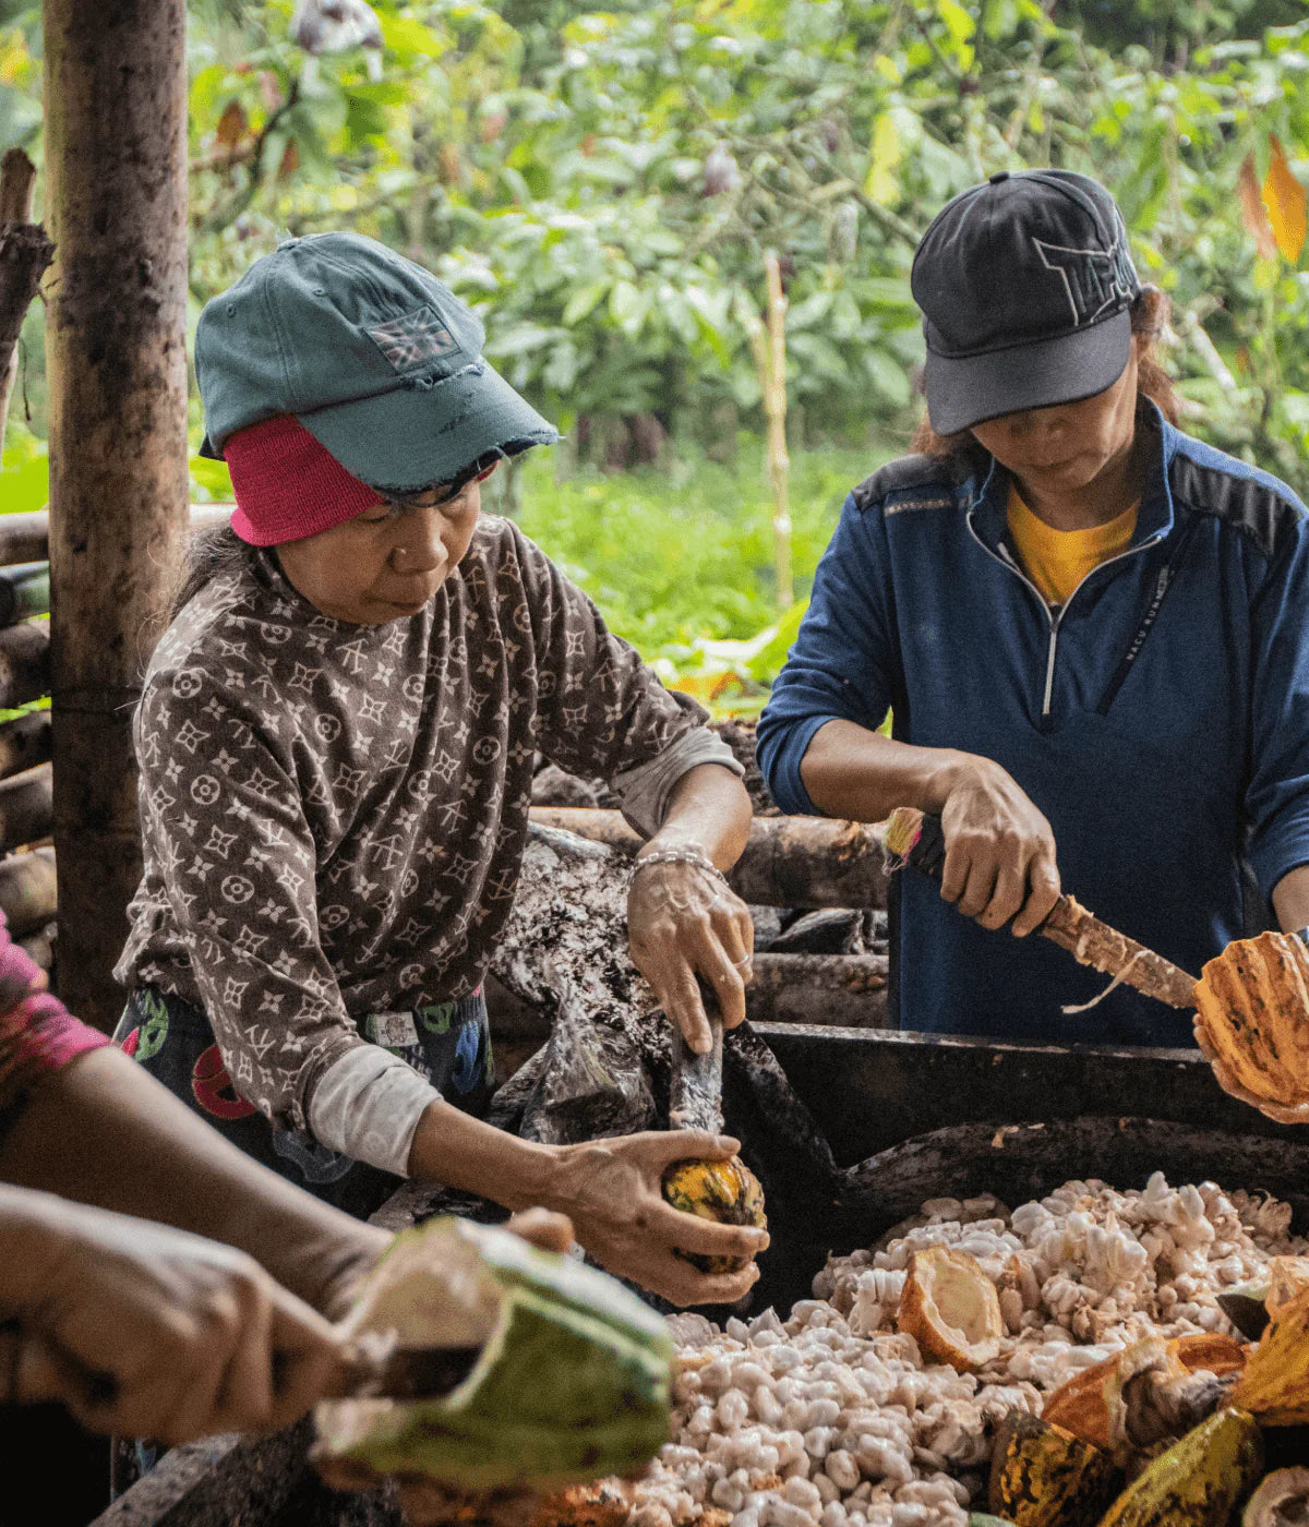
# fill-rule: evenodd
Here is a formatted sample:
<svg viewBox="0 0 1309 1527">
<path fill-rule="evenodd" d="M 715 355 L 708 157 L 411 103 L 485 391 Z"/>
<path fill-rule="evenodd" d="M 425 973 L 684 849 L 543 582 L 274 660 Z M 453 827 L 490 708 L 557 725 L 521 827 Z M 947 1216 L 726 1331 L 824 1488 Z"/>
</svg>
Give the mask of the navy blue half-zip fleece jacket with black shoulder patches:
<svg viewBox="0 0 1309 1527">
<path fill-rule="evenodd" d="M 800 779 L 814 733 L 878 727 L 889 705 L 901 741 L 1004 765 L 1049 818 L 1065 890 L 1199 974 L 1248 931 L 1243 861 L 1265 898 L 1309 863 L 1309 515 L 1153 408 L 1143 428 L 1155 454 L 1132 544 L 1057 612 L 1017 563 L 997 464 L 906 457 L 861 483 L 759 762 L 784 811 L 816 814 Z M 1130 988 L 1065 1017 L 1106 977 L 897 880 L 903 1028 L 1191 1043 L 1190 1014 Z"/>
</svg>

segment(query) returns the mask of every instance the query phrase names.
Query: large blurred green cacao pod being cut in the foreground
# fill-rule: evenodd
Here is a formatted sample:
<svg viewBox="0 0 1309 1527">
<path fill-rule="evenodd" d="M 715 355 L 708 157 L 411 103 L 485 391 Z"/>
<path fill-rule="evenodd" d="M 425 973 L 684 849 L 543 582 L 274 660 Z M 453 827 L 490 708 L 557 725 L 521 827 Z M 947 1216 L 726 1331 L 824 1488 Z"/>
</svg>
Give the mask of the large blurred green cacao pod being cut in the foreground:
<svg viewBox="0 0 1309 1527">
<path fill-rule="evenodd" d="M 435 1219 L 403 1231 L 342 1336 L 478 1356 L 446 1393 L 319 1403 L 313 1458 L 328 1474 L 550 1493 L 632 1475 L 669 1437 L 664 1321 L 614 1278 L 503 1229 Z"/>
</svg>

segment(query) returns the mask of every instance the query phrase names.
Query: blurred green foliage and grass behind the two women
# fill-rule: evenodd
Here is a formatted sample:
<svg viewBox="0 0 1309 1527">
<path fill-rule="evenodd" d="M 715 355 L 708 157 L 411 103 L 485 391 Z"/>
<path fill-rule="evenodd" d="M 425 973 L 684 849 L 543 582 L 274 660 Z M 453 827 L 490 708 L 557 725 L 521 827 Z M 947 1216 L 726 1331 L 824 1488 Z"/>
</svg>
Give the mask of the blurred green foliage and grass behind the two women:
<svg viewBox="0 0 1309 1527">
<path fill-rule="evenodd" d="M 380 58 L 309 58 L 293 0 L 194 0 L 192 324 L 286 234 L 353 228 L 435 269 L 570 437 L 506 502 L 646 651 L 745 640 L 770 615 L 764 250 L 790 298 L 803 582 L 845 489 L 912 428 L 913 241 L 994 169 L 1109 185 L 1173 301 L 1188 428 L 1309 490 L 1309 270 L 1256 252 L 1237 197 L 1269 134 L 1309 171 L 1306 0 L 376 9 Z M 37 156 L 38 20 L 0 0 L 0 144 Z M 40 325 L 5 507 L 43 493 Z M 643 455 L 654 475 L 599 472 Z"/>
</svg>

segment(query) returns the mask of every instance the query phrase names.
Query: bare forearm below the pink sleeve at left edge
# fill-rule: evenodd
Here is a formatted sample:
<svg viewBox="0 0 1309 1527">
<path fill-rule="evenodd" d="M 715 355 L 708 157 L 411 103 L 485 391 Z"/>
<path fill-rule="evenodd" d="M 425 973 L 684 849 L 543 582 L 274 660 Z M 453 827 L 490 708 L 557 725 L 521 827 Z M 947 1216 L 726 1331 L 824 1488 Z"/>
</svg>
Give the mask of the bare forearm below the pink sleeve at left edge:
<svg viewBox="0 0 1309 1527">
<path fill-rule="evenodd" d="M 389 1240 L 252 1161 L 116 1049 L 35 1089 L 0 1177 L 225 1241 L 325 1313 Z"/>
</svg>

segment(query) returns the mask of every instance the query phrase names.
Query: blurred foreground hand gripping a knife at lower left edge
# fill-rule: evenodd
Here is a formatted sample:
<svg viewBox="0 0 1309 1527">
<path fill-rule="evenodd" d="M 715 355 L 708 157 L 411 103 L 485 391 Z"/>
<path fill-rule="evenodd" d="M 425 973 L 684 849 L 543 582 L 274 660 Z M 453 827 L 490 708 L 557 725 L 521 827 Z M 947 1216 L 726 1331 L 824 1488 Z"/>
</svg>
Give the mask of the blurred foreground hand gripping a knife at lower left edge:
<svg viewBox="0 0 1309 1527">
<path fill-rule="evenodd" d="M 3 1267 L 5 1397 L 176 1446 L 286 1426 L 335 1374 L 331 1325 L 244 1252 L 47 1194 L 12 1215 L 15 1191 L 0 1202 L 3 1257 L 23 1258 Z"/>
</svg>

